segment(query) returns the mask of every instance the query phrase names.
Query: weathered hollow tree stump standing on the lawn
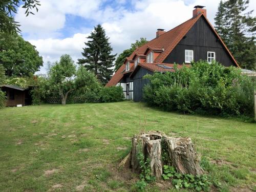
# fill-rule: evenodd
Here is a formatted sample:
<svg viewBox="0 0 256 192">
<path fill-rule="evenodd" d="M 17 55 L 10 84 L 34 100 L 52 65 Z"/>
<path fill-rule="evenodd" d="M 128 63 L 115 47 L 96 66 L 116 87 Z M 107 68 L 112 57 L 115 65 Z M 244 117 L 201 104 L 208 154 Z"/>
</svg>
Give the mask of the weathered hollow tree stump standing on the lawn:
<svg viewBox="0 0 256 192">
<path fill-rule="evenodd" d="M 167 137 L 160 131 L 134 135 L 132 151 L 120 165 L 129 165 L 133 172 L 140 172 L 138 153 L 143 153 L 144 160 L 150 158 L 151 172 L 156 178 L 161 177 L 163 165 L 174 166 L 181 174 L 203 174 L 199 165 L 200 158 L 190 138 Z"/>
</svg>

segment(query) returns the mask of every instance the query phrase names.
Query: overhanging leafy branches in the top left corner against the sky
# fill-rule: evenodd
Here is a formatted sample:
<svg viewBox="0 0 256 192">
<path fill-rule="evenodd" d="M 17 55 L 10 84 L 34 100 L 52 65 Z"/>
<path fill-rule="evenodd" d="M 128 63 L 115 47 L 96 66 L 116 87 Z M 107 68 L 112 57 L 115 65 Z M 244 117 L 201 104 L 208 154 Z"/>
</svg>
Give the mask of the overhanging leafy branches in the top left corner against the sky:
<svg viewBox="0 0 256 192">
<path fill-rule="evenodd" d="M 22 8 L 26 9 L 26 16 L 34 14 L 32 10 L 40 6 L 36 0 L 1 0 L 0 1 L 0 32 L 20 32 L 18 22 L 15 22 L 13 15 L 17 13 L 19 4 L 24 3 Z"/>
</svg>

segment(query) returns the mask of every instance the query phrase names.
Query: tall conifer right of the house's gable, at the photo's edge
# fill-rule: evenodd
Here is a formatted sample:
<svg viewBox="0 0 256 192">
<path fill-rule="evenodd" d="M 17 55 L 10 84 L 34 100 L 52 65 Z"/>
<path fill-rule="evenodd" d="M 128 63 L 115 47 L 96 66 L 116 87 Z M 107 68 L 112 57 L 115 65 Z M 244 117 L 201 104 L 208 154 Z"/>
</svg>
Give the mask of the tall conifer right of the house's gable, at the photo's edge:
<svg viewBox="0 0 256 192">
<path fill-rule="evenodd" d="M 216 29 L 225 44 L 245 69 L 256 68 L 256 17 L 246 12 L 248 0 L 220 2 L 215 17 Z M 246 12 L 246 13 L 245 13 Z"/>
</svg>

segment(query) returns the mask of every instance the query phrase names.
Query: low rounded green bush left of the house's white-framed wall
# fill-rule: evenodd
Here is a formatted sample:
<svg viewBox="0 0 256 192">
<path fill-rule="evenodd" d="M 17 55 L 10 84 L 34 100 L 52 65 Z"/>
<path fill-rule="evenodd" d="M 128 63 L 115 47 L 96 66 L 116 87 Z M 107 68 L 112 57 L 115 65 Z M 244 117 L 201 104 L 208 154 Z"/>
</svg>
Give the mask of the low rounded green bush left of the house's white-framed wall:
<svg viewBox="0 0 256 192">
<path fill-rule="evenodd" d="M 121 86 L 104 87 L 99 92 L 100 102 L 118 102 L 124 99 L 123 89 Z"/>
</svg>

